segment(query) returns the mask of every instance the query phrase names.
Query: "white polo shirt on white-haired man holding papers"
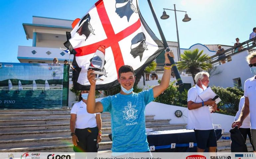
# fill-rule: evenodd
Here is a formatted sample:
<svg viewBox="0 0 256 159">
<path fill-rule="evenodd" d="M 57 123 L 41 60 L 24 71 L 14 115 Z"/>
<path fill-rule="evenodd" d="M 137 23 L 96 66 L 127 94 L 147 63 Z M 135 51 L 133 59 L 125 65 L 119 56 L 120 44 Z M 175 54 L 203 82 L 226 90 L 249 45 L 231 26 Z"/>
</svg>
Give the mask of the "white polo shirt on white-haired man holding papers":
<svg viewBox="0 0 256 159">
<path fill-rule="evenodd" d="M 190 88 L 188 91 L 188 101 L 194 103 L 201 103 L 202 99 L 198 96 L 203 89 L 198 85 Z M 208 106 L 203 106 L 197 109 L 188 110 L 188 129 L 195 130 L 212 130 L 212 117 L 210 113 L 210 108 Z"/>
</svg>

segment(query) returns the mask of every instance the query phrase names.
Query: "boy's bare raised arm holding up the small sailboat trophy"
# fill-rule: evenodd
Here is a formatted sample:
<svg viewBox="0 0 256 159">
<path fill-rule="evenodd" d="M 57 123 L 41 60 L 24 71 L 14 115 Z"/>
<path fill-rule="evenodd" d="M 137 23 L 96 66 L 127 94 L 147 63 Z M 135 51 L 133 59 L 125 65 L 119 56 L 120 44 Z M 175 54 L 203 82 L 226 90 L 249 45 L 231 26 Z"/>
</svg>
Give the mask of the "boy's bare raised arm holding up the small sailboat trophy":
<svg viewBox="0 0 256 159">
<path fill-rule="evenodd" d="M 103 106 L 100 102 L 95 102 L 95 88 L 96 88 L 96 80 L 95 78 L 95 74 L 91 74 L 92 72 L 94 72 L 94 70 L 89 69 L 87 71 L 87 78 L 91 84 L 90 86 L 90 91 L 88 94 L 88 98 L 87 98 L 87 112 L 88 113 L 101 113 L 103 112 Z"/>
</svg>

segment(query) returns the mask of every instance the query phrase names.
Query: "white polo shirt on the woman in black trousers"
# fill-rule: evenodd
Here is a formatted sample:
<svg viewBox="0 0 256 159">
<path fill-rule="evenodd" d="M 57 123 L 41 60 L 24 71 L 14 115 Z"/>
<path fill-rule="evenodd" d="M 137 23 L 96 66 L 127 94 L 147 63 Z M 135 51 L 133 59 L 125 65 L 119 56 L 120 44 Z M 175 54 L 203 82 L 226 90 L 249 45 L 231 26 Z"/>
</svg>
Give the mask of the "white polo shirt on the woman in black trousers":
<svg viewBox="0 0 256 159">
<path fill-rule="evenodd" d="M 94 128 L 97 126 L 96 114 L 88 113 L 86 104 L 82 100 L 73 105 L 70 113 L 76 114 L 75 128 L 77 129 Z"/>
</svg>

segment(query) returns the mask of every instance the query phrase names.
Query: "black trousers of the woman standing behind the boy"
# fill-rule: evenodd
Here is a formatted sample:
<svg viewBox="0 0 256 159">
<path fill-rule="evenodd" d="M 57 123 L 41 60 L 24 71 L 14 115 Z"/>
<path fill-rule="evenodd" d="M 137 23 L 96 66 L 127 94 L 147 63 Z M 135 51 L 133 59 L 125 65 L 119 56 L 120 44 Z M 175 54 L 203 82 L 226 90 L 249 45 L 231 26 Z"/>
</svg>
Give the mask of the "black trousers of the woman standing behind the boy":
<svg viewBox="0 0 256 159">
<path fill-rule="evenodd" d="M 98 152 L 98 127 L 75 129 L 75 134 L 79 142 L 73 147 L 74 152 Z"/>
</svg>

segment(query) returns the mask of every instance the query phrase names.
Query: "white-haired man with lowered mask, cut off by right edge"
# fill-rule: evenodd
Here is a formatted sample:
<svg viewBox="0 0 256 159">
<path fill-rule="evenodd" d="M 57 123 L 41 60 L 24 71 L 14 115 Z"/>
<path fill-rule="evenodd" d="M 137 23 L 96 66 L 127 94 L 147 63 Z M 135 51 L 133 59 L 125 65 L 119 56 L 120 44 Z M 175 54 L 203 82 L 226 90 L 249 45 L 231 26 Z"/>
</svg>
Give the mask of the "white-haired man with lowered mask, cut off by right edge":
<svg viewBox="0 0 256 159">
<path fill-rule="evenodd" d="M 239 118 L 233 122 L 232 127 L 238 126 L 240 128 L 243 125 L 245 118 L 250 113 L 251 122 L 251 135 L 252 144 L 256 146 L 256 52 L 249 54 L 246 60 L 251 68 L 251 73 L 254 77 L 247 79 L 244 82 L 244 97 L 245 102 L 242 108 Z"/>
</svg>

